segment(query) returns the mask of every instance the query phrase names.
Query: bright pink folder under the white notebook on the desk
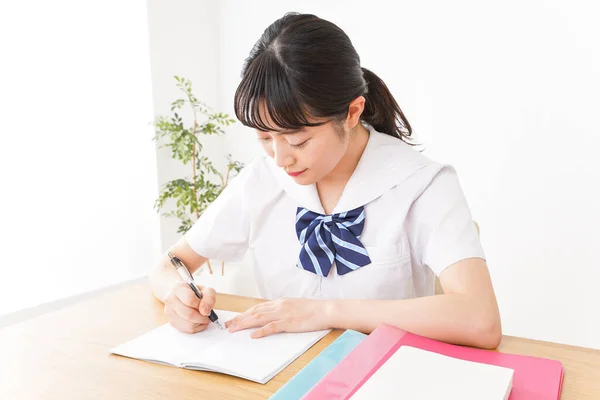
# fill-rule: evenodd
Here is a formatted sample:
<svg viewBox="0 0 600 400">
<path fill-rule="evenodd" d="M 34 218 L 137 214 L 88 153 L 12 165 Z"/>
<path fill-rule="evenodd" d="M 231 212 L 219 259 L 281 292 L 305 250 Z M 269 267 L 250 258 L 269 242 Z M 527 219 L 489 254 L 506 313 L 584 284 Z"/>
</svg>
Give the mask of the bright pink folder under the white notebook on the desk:
<svg viewBox="0 0 600 400">
<path fill-rule="evenodd" d="M 560 361 L 456 346 L 382 325 L 323 377 L 303 400 L 349 399 L 402 345 L 450 357 L 512 368 L 509 400 L 558 400 L 562 388 Z"/>
</svg>

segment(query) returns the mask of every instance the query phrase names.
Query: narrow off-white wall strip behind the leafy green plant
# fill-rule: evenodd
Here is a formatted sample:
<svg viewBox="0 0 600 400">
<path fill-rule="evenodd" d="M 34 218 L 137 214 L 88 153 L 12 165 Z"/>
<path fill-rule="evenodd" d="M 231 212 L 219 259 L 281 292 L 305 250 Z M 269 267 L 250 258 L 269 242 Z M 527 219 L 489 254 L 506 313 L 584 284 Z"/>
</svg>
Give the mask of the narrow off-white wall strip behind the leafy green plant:
<svg viewBox="0 0 600 400">
<path fill-rule="evenodd" d="M 149 0 L 150 59 L 155 116 L 172 115 L 171 102 L 182 98 L 174 76 L 189 79 L 196 97 L 216 108 L 218 100 L 218 5 L 209 0 Z M 182 110 L 186 125 L 190 113 Z M 222 140 L 203 137 L 204 152 L 216 164 L 224 163 Z M 168 148 L 158 151 L 158 181 L 190 176 L 191 167 L 171 158 Z M 179 238 L 179 221 L 160 218 L 163 250 Z"/>
</svg>

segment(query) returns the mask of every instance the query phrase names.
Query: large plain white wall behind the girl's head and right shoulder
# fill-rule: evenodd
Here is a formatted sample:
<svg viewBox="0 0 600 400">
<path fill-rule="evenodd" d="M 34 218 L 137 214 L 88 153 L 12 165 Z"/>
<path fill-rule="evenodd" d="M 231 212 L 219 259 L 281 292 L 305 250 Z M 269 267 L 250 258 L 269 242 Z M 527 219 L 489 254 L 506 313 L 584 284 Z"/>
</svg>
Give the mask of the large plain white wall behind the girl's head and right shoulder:
<svg viewBox="0 0 600 400">
<path fill-rule="evenodd" d="M 233 113 L 244 58 L 286 11 L 337 23 L 363 66 L 391 88 L 426 154 L 458 169 L 482 228 L 505 334 L 600 348 L 597 6 L 534 0 L 218 4 L 218 108 Z M 181 38 L 178 46 L 198 40 Z M 242 126 L 225 139 L 224 150 L 238 159 L 259 154 Z"/>
</svg>

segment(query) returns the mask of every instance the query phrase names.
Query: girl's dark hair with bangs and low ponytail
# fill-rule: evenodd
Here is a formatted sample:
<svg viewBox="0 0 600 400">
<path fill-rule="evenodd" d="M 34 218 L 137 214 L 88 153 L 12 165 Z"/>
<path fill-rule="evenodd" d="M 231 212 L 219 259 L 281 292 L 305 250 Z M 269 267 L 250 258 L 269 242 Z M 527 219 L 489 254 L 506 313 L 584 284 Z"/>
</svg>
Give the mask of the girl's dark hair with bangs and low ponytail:
<svg viewBox="0 0 600 400">
<path fill-rule="evenodd" d="M 262 131 L 318 126 L 309 117 L 341 121 L 350 102 L 366 99 L 361 120 L 408 142 L 412 128 L 385 83 L 366 68 L 350 38 L 335 24 L 311 14 L 287 13 L 256 42 L 242 68 L 235 114 Z M 277 127 L 259 112 L 264 100 Z"/>
</svg>

